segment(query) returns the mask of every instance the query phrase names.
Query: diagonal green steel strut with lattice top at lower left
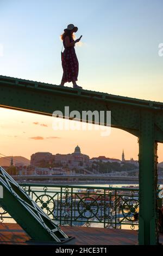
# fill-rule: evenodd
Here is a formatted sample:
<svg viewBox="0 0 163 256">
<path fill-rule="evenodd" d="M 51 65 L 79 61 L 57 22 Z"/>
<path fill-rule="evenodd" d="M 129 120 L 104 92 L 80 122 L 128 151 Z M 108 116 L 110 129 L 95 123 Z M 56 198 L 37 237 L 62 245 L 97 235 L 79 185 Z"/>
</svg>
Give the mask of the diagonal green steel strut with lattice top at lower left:
<svg viewBox="0 0 163 256">
<path fill-rule="evenodd" d="M 3 198 L 0 204 L 35 241 L 61 243 L 68 236 L 49 218 L 29 195 L 0 167 Z"/>
</svg>

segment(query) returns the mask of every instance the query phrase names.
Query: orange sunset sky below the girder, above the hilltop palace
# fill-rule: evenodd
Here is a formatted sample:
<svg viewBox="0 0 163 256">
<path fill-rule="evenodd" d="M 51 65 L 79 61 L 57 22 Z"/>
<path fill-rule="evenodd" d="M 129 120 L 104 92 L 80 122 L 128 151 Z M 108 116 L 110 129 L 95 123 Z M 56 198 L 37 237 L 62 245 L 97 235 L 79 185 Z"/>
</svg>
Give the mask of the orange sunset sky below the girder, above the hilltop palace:
<svg viewBox="0 0 163 256">
<path fill-rule="evenodd" d="M 138 159 L 137 137 L 124 130 L 111 128 L 109 136 L 100 130 L 53 130 L 52 117 L 0 108 L 1 154 L 30 159 L 35 152 L 72 153 L 79 145 L 90 158 L 105 156 Z M 72 121 L 68 121 L 72 122 Z M 158 146 L 158 162 L 163 161 L 163 144 Z"/>
</svg>

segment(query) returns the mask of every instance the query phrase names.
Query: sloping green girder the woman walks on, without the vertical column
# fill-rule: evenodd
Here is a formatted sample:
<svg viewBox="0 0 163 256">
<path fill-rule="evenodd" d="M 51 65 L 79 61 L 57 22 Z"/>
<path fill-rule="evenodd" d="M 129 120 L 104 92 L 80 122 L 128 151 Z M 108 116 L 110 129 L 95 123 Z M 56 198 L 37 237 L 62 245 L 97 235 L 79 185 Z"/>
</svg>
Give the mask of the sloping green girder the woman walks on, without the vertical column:
<svg viewBox="0 0 163 256">
<path fill-rule="evenodd" d="M 163 142 L 163 103 L 159 102 L 0 76 L 0 106 L 49 116 L 55 110 L 64 114 L 65 106 L 69 106 L 70 112 L 80 112 L 81 119 L 83 110 L 110 110 L 111 127 L 137 137 L 140 114 L 148 110 L 154 113 L 155 140 Z"/>
</svg>

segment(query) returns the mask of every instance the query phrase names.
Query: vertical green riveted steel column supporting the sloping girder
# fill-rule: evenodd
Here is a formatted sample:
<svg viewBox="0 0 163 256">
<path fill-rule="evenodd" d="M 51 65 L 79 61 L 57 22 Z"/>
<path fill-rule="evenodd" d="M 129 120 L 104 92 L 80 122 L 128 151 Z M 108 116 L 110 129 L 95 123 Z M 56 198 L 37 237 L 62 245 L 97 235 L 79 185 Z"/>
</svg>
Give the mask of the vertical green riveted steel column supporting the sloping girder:
<svg viewBox="0 0 163 256">
<path fill-rule="evenodd" d="M 157 245 L 157 142 L 152 111 L 140 112 L 139 135 L 139 245 Z"/>
</svg>

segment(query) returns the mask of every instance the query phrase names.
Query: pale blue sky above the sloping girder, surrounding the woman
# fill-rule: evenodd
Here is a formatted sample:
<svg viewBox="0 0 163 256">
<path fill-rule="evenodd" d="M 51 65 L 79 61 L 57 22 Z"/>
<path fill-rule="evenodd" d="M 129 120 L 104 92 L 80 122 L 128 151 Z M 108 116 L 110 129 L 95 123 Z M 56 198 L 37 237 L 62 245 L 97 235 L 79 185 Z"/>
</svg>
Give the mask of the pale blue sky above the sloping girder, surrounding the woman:
<svg viewBox="0 0 163 256">
<path fill-rule="evenodd" d="M 0 73 L 59 85 L 60 34 L 73 23 L 79 85 L 161 101 L 162 12 L 161 0 L 1 0 Z"/>
</svg>

